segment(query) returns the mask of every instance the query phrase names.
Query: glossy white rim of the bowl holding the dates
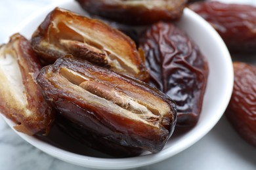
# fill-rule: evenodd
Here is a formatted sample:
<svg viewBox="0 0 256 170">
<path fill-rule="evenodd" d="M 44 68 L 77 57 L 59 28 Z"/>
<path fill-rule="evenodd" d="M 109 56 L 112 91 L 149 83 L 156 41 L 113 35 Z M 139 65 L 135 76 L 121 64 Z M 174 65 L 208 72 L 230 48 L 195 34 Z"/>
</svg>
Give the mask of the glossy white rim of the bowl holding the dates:
<svg viewBox="0 0 256 170">
<path fill-rule="evenodd" d="M 56 3 L 53 3 L 52 5 L 49 5 L 41 10 L 38 10 L 37 12 L 35 12 L 34 14 L 32 14 L 31 16 L 26 18 L 26 20 L 24 20 L 24 22 L 22 22 L 22 24 L 18 25 L 18 27 L 16 27 L 15 32 L 19 32 L 22 28 L 24 28 L 28 24 L 30 24 L 30 22 L 33 22 L 33 20 L 35 20 L 35 18 L 37 18 L 38 16 L 40 16 L 41 14 L 43 14 L 45 12 L 49 12 L 49 11 L 53 10 L 54 7 L 58 7 L 58 6 L 61 7 L 62 5 L 67 5 L 69 3 L 74 3 L 74 1 L 65 0 L 62 2 L 56 2 Z M 196 20 L 200 24 L 203 24 L 207 29 L 209 29 L 208 31 L 211 34 L 213 34 L 214 37 L 216 38 L 216 40 L 220 43 L 219 46 L 221 47 L 221 50 L 223 51 L 224 56 L 226 56 L 226 58 L 224 58 L 224 61 L 226 63 L 228 63 L 227 70 L 229 71 L 229 73 L 227 73 L 227 74 L 229 75 L 229 77 L 228 77 L 228 80 L 226 81 L 227 82 L 227 84 L 226 84 L 227 91 L 226 91 L 226 95 L 224 95 L 224 97 L 226 97 L 226 98 L 223 100 L 224 102 L 222 103 L 222 106 L 220 106 L 216 110 L 219 114 L 216 115 L 215 120 L 213 120 L 212 122 L 209 122 L 208 126 L 206 128 L 201 129 L 200 133 L 196 133 L 196 135 L 194 135 L 194 138 L 192 138 L 190 141 L 185 141 L 182 145 L 179 144 L 179 146 L 175 147 L 175 150 L 172 150 L 172 152 L 169 152 L 169 150 L 167 150 L 167 149 L 163 149 L 161 152 L 159 152 L 157 154 L 148 154 L 148 155 L 142 155 L 139 157 L 137 156 L 137 157 L 132 157 L 132 158 L 115 158 L 115 159 L 83 156 L 83 155 L 75 154 L 73 152 L 62 150 L 61 148 L 58 148 L 51 144 L 40 141 L 39 139 L 35 139 L 35 137 L 20 133 L 13 128 L 14 123 L 11 120 L 5 118 L 5 116 L 3 116 L 5 122 L 7 122 L 7 124 L 20 137 L 22 137 L 25 141 L 32 144 L 36 148 L 39 148 L 39 150 L 41 150 L 51 156 L 54 156 L 55 158 L 63 160 L 63 161 L 67 161 L 69 163 L 74 163 L 76 165 L 81 165 L 84 167 L 96 168 L 96 169 L 127 169 L 127 168 L 141 167 L 144 165 L 150 165 L 150 164 L 165 160 L 167 158 L 170 158 L 171 156 L 174 156 L 175 154 L 178 154 L 182 150 L 185 150 L 186 148 L 190 147 L 192 144 L 194 144 L 197 141 L 199 141 L 200 139 L 202 139 L 202 137 L 204 135 L 206 135 L 215 126 L 215 124 L 217 124 L 217 122 L 223 115 L 224 110 L 226 109 L 228 102 L 230 100 L 231 94 L 232 94 L 232 87 L 233 87 L 233 81 L 234 81 L 233 73 L 234 72 L 233 72 L 233 67 L 232 67 L 232 59 L 230 57 L 228 49 L 226 48 L 226 45 L 224 44 L 224 42 L 221 39 L 221 37 L 219 36 L 219 34 L 215 31 L 215 29 L 213 29 L 213 27 L 211 27 L 211 25 L 209 25 L 205 20 L 203 20 L 203 18 L 201 18 L 198 14 L 196 14 L 195 12 L 193 12 L 190 9 L 187 9 L 187 8 L 184 9 L 184 14 L 186 14 L 186 17 L 188 17 L 190 19 L 193 18 L 193 20 Z"/>
</svg>

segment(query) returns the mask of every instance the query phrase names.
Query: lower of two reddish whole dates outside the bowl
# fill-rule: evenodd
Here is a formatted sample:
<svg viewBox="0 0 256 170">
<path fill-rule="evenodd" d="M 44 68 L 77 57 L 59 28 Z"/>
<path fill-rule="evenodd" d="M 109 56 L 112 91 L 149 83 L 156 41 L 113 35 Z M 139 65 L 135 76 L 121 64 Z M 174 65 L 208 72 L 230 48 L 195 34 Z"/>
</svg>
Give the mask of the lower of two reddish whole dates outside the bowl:
<svg viewBox="0 0 256 170">
<path fill-rule="evenodd" d="M 226 116 L 247 142 L 256 146 L 256 67 L 234 62 L 234 88 Z"/>
</svg>

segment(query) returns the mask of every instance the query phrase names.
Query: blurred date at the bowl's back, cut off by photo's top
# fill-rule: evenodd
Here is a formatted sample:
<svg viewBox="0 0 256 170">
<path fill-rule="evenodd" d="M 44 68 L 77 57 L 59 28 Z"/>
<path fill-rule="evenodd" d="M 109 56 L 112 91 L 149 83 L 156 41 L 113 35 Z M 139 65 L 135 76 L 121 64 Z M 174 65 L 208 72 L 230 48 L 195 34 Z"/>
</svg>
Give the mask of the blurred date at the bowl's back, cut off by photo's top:
<svg viewBox="0 0 256 170">
<path fill-rule="evenodd" d="M 160 20 L 177 20 L 187 0 L 76 0 L 83 9 L 129 25 L 153 24 Z"/>
</svg>

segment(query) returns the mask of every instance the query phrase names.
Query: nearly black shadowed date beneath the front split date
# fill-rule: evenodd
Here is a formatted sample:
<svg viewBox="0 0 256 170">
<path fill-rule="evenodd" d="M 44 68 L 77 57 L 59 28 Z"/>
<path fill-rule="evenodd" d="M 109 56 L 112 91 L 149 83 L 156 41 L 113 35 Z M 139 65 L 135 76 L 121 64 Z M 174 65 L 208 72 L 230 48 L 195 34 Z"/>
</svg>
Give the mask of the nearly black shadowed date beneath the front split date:
<svg viewBox="0 0 256 170">
<path fill-rule="evenodd" d="M 56 118 L 55 125 L 60 131 L 66 133 L 76 141 L 79 141 L 79 143 L 108 154 L 109 156 L 114 156 L 114 158 L 139 156 L 143 151 L 141 148 L 121 146 L 120 144 L 108 141 L 108 139 L 98 137 L 96 133 L 91 133 L 87 129 L 77 126 L 77 124 L 74 124 L 62 116 Z"/>
</svg>

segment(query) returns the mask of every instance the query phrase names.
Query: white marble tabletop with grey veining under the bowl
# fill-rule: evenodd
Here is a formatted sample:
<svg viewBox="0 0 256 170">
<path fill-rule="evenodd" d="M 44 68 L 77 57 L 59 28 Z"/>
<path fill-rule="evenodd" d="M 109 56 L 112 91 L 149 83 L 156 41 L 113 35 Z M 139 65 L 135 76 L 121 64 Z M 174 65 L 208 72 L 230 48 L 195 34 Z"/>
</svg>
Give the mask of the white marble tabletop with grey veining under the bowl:
<svg viewBox="0 0 256 170">
<path fill-rule="evenodd" d="M 1 0 L 0 43 L 6 42 L 16 25 L 38 9 L 57 0 Z M 255 0 L 222 0 L 254 3 Z M 0 169 L 88 169 L 57 160 L 21 139 L 0 117 Z M 245 143 L 223 116 L 196 144 L 165 161 L 137 169 L 256 169 L 256 148 Z"/>
</svg>

